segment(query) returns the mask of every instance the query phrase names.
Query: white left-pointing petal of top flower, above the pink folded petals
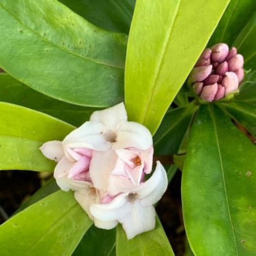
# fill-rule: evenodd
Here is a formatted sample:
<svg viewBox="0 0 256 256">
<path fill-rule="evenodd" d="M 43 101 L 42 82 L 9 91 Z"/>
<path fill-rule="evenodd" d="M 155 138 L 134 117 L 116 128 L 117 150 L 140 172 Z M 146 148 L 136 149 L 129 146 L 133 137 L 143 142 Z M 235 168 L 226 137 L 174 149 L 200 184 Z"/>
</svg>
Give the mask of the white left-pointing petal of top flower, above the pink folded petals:
<svg viewBox="0 0 256 256">
<path fill-rule="evenodd" d="M 111 147 L 111 143 L 106 141 L 104 133 L 106 127 L 98 122 L 86 122 L 75 129 L 63 140 L 63 146 L 68 148 L 88 148 L 91 150 L 105 151 Z M 65 152 L 67 158 L 69 153 Z M 71 157 L 71 156 L 70 156 Z"/>
</svg>

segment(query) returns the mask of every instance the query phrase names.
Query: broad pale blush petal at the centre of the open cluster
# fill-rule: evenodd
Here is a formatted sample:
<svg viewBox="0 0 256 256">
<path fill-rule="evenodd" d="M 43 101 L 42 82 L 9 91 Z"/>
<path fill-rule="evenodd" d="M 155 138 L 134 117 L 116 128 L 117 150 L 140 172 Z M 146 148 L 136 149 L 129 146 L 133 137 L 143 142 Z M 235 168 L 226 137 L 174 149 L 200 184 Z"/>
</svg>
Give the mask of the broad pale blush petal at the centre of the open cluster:
<svg viewBox="0 0 256 256">
<path fill-rule="evenodd" d="M 90 177 L 94 187 L 100 191 L 108 190 L 108 177 L 115 168 L 117 154 L 114 150 L 106 152 L 92 152 L 90 162 Z"/>
</svg>

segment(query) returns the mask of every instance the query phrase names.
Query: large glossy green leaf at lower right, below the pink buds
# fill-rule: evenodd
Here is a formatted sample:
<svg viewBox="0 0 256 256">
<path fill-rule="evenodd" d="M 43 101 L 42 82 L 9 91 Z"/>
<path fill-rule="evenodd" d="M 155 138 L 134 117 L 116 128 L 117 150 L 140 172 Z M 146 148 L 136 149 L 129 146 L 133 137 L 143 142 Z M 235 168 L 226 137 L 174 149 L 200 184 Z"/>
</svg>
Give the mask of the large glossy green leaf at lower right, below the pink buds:
<svg viewBox="0 0 256 256">
<path fill-rule="evenodd" d="M 256 148 L 214 104 L 201 105 L 190 133 L 182 199 L 197 256 L 255 255 Z"/>
</svg>

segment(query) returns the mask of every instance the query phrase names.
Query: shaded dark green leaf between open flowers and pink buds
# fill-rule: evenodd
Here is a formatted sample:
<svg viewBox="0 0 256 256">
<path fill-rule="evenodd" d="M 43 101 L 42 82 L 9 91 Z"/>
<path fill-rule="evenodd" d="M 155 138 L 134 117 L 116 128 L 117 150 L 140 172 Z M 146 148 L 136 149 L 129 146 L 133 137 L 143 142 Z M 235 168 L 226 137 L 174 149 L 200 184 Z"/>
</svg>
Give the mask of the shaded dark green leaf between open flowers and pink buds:
<svg viewBox="0 0 256 256">
<path fill-rule="evenodd" d="M 195 102 L 168 111 L 154 135 L 154 151 L 158 155 L 177 154 L 198 106 Z"/>
</svg>

